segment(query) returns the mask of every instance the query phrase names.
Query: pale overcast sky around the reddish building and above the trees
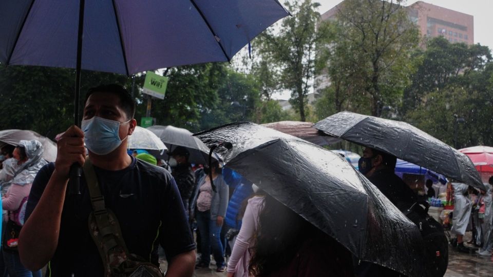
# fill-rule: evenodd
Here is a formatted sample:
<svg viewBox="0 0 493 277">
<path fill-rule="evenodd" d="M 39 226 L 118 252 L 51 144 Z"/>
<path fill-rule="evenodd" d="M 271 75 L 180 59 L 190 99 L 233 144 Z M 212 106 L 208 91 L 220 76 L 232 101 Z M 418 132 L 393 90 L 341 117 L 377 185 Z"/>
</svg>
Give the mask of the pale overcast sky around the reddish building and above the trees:
<svg viewBox="0 0 493 277">
<path fill-rule="evenodd" d="M 313 2 L 321 4 L 318 12 L 322 14 L 342 0 L 313 0 Z M 418 1 L 408 0 L 405 5 L 409 6 L 415 2 Z M 474 16 L 474 43 L 480 43 L 493 49 L 493 0 L 425 0 L 423 2 Z M 275 99 L 288 99 L 289 97 L 289 91 L 273 95 Z"/>
</svg>

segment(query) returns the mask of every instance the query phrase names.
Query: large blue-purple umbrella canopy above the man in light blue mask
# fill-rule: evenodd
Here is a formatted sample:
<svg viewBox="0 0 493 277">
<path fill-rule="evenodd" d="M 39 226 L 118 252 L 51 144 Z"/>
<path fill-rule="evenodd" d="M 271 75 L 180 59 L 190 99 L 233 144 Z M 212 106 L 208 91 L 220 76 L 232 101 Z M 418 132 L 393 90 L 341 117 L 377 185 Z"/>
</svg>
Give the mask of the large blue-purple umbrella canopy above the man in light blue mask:
<svg viewBox="0 0 493 277">
<path fill-rule="evenodd" d="M 133 74 L 227 62 L 289 13 L 277 0 L 0 2 L 0 63 Z"/>
</svg>

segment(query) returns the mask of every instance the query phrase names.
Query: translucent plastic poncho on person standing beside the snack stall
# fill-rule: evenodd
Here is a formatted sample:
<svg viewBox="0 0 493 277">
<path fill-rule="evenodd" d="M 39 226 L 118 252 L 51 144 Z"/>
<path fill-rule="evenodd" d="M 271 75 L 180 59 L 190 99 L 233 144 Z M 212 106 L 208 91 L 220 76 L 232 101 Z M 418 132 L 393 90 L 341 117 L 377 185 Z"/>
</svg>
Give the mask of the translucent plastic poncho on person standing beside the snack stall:
<svg viewBox="0 0 493 277">
<path fill-rule="evenodd" d="M 464 235 L 467 224 L 469 223 L 472 207 L 471 200 L 465 196 L 469 186 L 463 183 L 452 183 L 452 186 L 454 190 L 454 207 L 451 232 Z"/>
</svg>

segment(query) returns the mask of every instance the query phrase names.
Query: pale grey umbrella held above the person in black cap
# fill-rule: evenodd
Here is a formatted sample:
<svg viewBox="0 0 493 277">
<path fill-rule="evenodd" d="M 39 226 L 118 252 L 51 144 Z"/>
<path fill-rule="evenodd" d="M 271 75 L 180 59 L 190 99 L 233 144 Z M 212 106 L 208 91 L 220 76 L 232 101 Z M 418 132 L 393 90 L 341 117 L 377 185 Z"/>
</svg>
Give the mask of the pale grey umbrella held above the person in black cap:
<svg viewBox="0 0 493 277">
<path fill-rule="evenodd" d="M 190 155 L 188 156 L 188 162 L 192 164 L 208 164 L 207 157 L 209 154 L 209 148 L 205 146 L 197 137 L 193 136 L 191 131 L 187 129 L 178 128 L 175 126 L 150 126 L 147 128 L 149 131 L 155 133 L 160 140 L 172 152 L 177 146 L 186 147 Z M 215 160 L 219 160 L 216 156 L 213 156 Z M 161 159 L 167 159 L 167 153 L 163 153 L 160 156 Z"/>
</svg>

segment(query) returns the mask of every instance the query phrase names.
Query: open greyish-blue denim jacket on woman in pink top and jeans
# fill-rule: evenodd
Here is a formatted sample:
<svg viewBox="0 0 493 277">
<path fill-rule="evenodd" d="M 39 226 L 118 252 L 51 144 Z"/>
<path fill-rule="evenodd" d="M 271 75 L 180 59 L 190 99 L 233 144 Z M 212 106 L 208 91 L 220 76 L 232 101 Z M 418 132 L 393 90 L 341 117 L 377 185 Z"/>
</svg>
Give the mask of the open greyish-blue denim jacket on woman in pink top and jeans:
<svg viewBox="0 0 493 277">
<path fill-rule="evenodd" d="M 193 209 L 197 208 L 197 197 L 199 196 L 200 187 L 205 183 L 205 176 L 202 176 L 197 188 L 195 188 L 194 198 L 191 203 Z M 224 182 L 221 174 L 217 175 L 214 185 L 216 186 L 217 192 L 212 191 L 211 220 L 216 220 L 218 215 L 222 217 L 226 215 L 227 200 L 230 193 L 229 187 Z"/>
</svg>

